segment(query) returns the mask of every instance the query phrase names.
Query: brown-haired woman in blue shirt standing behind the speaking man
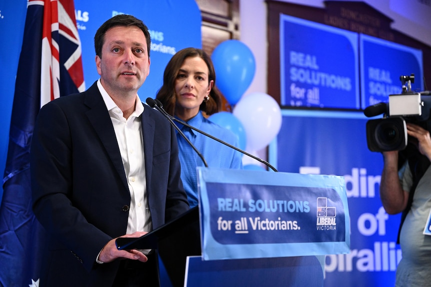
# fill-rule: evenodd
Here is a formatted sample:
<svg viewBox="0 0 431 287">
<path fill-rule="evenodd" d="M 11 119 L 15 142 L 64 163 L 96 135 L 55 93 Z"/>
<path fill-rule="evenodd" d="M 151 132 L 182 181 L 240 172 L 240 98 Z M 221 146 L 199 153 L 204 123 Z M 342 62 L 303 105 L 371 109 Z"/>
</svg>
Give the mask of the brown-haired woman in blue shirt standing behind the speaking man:
<svg viewBox="0 0 431 287">
<path fill-rule="evenodd" d="M 221 94 L 215 87 L 215 72 L 210 57 L 201 49 L 185 48 L 176 52 L 167 63 L 163 74 L 163 85 L 156 99 L 166 112 L 187 124 L 238 146 L 238 137 L 231 131 L 206 119 L 202 112 L 211 115 L 220 110 Z M 187 138 L 203 155 L 210 168 L 242 168 L 241 154 L 217 141 L 181 124 Z M 177 134 L 181 179 L 187 193 L 188 203 L 194 207 L 197 199 L 196 166 L 202 160 L 190 145 Z"/>
</svg>

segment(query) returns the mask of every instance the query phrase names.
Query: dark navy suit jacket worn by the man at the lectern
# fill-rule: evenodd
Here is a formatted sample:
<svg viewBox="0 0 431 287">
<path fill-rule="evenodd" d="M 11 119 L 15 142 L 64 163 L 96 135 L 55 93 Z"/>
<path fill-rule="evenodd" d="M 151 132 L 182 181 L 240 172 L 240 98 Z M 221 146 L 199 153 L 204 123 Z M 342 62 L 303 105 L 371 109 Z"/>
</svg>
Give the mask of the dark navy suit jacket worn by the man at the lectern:
<svg viewBox="0 0 431 287">
<path fill-rule="evenodd" d="M 155 229 L 189 208 L 174 129 L 146 105 L 140 119 Z M 126 233 L 130 193 L 96 83 L 41 108 L 30 168 L 33 211 L 48 233 L 40 286 L 110 286 L 119 261 L 99 265 L 95 259 L 109 240 Z"/>
</svg>

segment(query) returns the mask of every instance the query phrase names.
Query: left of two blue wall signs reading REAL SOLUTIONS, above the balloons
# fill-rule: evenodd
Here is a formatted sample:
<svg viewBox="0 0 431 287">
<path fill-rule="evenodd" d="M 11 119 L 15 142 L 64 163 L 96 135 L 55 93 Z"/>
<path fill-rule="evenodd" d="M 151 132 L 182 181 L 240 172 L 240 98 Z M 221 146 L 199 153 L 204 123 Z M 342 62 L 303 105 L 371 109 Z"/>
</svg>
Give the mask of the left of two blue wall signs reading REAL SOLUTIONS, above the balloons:
<svg viewBox="0 0 431 287">
<path fill-rule="evenodd" d="M 359 109 L 357 33 L 280 15 L 282 106 Z"/>
</svg>

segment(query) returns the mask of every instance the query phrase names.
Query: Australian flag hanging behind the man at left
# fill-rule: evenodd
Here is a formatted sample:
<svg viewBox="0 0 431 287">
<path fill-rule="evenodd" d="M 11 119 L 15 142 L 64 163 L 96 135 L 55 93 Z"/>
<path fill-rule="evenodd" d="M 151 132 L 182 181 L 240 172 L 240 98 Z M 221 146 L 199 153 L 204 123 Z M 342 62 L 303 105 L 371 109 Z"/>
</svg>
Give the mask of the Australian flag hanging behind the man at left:
<svg viewBox="0 0 431 287">
<path fill-rule="evenodd" d="M 84 89 L 73 0 L 28 0 L 2 183 L 1 287 L 39 285 L 44 235 L 31 210 L 29 174 L 34 121 L 48 101 Z"/>
</svg>

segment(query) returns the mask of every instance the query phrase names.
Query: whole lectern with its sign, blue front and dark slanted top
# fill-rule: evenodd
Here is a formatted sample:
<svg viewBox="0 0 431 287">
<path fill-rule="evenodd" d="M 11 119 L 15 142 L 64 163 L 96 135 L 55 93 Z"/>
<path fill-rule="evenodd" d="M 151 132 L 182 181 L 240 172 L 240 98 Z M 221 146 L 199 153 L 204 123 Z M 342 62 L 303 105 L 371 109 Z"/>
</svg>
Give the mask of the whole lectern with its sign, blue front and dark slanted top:
<svg viewBox="0 0 431 287">
<path fill-rule="evenodd" d="M 197 168 L 199 208 L 118 249 L 155 249 L 173 287 L 323 286 L 349 252 L 344 180 Z"/>
</svg>

